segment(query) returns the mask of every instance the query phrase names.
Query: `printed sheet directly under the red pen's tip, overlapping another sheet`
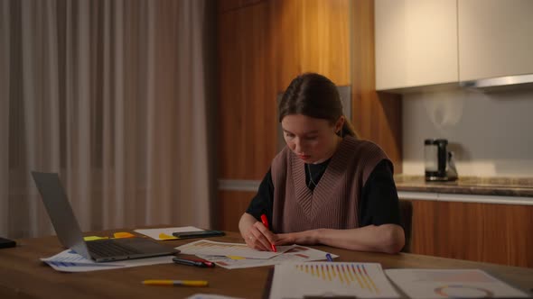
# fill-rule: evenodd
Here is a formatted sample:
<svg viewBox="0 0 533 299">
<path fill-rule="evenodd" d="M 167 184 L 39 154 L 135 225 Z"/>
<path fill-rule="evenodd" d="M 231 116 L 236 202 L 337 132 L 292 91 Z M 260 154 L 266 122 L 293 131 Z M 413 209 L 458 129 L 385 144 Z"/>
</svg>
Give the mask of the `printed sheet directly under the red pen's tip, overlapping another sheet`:
<svg viewBox="0 0 533 299">
<path fill-rule="evenodd" d="M 176 247 L 176 249 L 180 249 L 182 254 L 201 254 L 209 256 L 229 256 L 241 258 L 273 258 L 284 253 L 286 250 L 291 249 L 291 246 L 276 246 L 277 252 L 272 252 L 251 249 L 243 243 L 196 240 L 191 243 Z"/>
</svg>

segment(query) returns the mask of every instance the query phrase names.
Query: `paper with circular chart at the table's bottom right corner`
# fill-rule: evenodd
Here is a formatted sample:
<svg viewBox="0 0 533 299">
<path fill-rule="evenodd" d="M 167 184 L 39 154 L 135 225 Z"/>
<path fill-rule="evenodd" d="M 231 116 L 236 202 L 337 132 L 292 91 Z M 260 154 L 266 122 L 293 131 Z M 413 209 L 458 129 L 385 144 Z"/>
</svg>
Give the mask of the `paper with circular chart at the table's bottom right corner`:
<svg viewBox="0 0 533 299">
<path fill-rule="evenodd" d="M 479 269 L 388 269 L 385 273 L 414 299 L 528 297 Z"/>
</svg>

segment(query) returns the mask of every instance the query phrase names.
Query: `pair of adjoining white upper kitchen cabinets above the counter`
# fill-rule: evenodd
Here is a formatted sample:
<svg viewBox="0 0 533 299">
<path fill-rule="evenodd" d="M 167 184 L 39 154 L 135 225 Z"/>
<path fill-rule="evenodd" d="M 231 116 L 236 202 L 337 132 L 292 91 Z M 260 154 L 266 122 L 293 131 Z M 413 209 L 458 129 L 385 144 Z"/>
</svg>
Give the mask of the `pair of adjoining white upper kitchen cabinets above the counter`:
<svg viewBox="0 0 533 299">
<path fill-rule="evenodd" d="M 375 0 L 376 89 L 533 74 L 533 0 Z"/>
</svg>

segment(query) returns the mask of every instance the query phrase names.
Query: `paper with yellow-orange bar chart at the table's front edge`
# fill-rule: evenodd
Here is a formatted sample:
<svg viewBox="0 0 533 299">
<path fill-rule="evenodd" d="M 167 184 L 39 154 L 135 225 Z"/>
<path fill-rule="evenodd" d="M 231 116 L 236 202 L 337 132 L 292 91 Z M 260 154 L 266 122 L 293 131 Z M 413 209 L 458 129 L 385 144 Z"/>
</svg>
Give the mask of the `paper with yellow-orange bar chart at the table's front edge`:
<svg viewBox="0 0 533 299">
<path fill-rule="evenodd" d="M 398 298 L 378 263 L 306 262 L 276 265 L 270 299 Z"/>
</svg>

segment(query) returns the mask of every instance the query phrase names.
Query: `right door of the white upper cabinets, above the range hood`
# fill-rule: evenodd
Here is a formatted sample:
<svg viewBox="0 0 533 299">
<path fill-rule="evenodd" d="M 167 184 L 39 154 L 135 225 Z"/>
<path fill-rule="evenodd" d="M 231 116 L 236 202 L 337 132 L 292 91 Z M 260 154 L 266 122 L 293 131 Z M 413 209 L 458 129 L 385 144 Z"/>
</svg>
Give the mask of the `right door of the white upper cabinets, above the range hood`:
<svg viewBox="0 0 533 299">
<path fill-rule="evenodd" d="M 533 73 L 533 1 L 459 0 L 461 81 Z"/>
</svg>

